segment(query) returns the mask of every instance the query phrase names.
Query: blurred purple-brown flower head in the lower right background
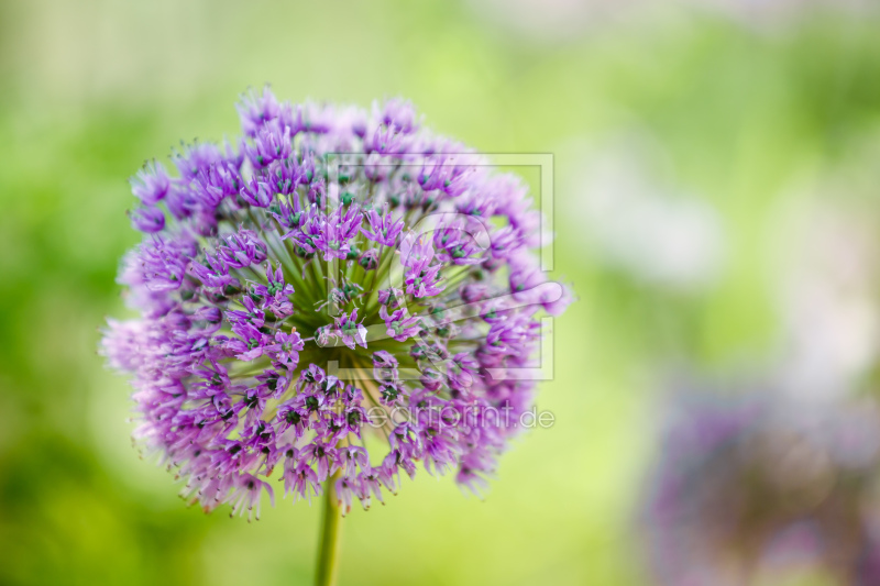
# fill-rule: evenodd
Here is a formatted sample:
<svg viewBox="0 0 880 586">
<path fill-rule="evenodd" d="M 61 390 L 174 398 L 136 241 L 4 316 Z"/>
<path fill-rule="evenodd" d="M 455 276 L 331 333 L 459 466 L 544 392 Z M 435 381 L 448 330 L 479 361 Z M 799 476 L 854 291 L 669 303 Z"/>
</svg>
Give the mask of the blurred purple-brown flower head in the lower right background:
<svg viewBox="0 0 880 586">
<path fill-rule="evenodd" d="M 880 584 L 876 405 L 688 394 L 673 413 L 645 504 L 657 584 Z"/>
</svg>

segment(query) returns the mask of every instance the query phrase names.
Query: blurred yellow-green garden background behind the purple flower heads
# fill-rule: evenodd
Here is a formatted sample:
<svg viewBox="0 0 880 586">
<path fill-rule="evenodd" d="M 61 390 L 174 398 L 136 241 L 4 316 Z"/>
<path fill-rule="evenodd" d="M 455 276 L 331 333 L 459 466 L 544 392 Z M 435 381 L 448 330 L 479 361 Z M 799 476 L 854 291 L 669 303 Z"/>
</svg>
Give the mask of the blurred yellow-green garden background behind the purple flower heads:
<svg viewBox="0 0 880 586">
<path fill-rule="evenodd" d="M 554 425 L 517 442 L 483 501 L 420 473 L 354 510 L 340 583 L 651 584 L 636 519 L 670 380 L 815 366 L 810 341 L 835 335 L 815 351 L 839 354 L 832 386 L 871 378 L 878 16 L 771 0 L 0 1 L 0 584 L 311 582 L 320 504 L 266 500 L 250 524 L 186 507 L 132 447 L 130 388 L 96 353 L 107 316 L 127 314 L 128 178 L 180 140 L 235 136 L 234 101 L 265 82 L 293 101 L 404 96 L 481 151 L 553 154 L 553 274 L 580 297 L 538 395 Z M 817 319 L 799 295 L 842 265 L 862 289 L 845 276 L 840 303 L 867 309 L 839 318 L 833 298 Z"/>
</svg>

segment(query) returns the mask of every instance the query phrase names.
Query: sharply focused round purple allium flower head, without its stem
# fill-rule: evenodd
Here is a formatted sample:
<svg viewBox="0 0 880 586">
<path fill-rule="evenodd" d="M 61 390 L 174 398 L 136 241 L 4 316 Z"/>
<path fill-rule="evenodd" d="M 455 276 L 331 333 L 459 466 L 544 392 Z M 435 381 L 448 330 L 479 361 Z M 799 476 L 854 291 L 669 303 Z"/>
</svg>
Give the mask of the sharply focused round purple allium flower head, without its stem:
<svg viewBox="0 0 880 586">
<path fill-rule="evenodd" d="M 272 480 L 369 507 L 419 462 L 484 489 L 534 397 L 497 373 L 534 366 L 541 311 L 569 299 L 525 188 L 403 100 L 266 89 L 238 111 L 237 143 L 132 180 L 146 234 L 120 283 L 140 317 L 109 321 L 102 352 L 132 377 L 136 442 L 206 510 L 258 512 Z"/>
</svg>

